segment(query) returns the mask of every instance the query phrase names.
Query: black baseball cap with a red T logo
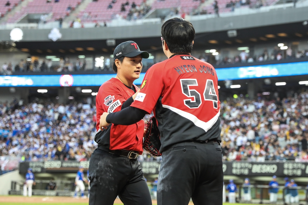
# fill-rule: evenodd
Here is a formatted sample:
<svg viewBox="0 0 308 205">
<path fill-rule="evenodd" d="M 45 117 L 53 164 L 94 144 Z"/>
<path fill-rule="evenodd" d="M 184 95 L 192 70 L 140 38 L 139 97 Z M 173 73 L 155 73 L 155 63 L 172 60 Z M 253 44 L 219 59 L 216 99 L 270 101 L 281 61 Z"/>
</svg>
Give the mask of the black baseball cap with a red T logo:
<svg viewBox="0 0 308 205">
<path fill-rule="evenodd" d="M 140 54 L 142 58 L 149 57 L 149 53 L 147 51 L 141 51 L 137 43 L 133 41 L 126 41 L 116 46 L 115 51 L 113 51 L 113 61 L 121 58 L 122 56 L 132 58 Z"/>
</svg>

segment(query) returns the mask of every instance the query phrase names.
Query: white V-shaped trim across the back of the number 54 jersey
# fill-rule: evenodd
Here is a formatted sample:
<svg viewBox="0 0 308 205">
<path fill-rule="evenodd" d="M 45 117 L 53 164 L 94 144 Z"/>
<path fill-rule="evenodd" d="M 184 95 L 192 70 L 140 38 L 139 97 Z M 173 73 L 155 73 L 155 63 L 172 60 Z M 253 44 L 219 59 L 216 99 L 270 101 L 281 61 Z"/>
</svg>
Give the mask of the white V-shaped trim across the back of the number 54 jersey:
<svg viewBox="0 0 308 205">
<path fill-rule="evenodd" d="M 162 105 L 162 106 L 164 108 L 167 108 L 167 109 L 181 115 L 182 117 L 192 121 L 197 127 L 200 127 L 205 132 L 209 131 L 209 129 L 211 129 L 211 127 L 213 127 L 213 125 L 217 122 L 219 115 L 220 115 L 220 110 L 219 110 L 218 113 L 212 119 L 210 119 L 208 122 L 204 122 L 204 121 L 198 119 L 195 115 L 190 114 L 190 113 L 185 112 L 185 111 L 182 111 L 182 110 L 177 109 L 175 107 L 171 107 L 171 106 L 168 106 L 168 105 Z"/>
</svg>

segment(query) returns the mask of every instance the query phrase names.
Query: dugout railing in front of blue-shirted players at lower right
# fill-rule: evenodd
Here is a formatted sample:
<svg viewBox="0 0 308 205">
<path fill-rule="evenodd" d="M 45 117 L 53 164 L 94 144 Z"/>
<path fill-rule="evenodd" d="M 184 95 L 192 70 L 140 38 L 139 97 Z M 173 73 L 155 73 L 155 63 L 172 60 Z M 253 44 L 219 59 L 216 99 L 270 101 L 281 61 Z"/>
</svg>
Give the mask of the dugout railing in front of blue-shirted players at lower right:
<svg viewBox="0 0 308 205">
<path fill-rule="evenodd" d="M 247 188 L 246 191 L 248 192 L 250 196 L 250 200 L 247 200 L 244 196 L 244 188 Z M 270 195 L 269 195 L 269 189 L 273 188 L 269 185 L 241 185 L 239 187 L 238 192 L 238 202 L 240 203 L 270 203 Z M 283 203 L 283 204 L 289 204 L 290 202 L 290 196 L 287 195 L 287 193 L 290 193 L 290 190 L 298 190 L 298 202 L 293 202 L 295 204 L 307 204 L 308 203 L 308 187 L 285 187 L 285 186 L 278 186 L 274 187 L 278 188 L 277 193 L 277 202 Z M 289 192 L 287 192 L 289 191 Z"/>
</svg>

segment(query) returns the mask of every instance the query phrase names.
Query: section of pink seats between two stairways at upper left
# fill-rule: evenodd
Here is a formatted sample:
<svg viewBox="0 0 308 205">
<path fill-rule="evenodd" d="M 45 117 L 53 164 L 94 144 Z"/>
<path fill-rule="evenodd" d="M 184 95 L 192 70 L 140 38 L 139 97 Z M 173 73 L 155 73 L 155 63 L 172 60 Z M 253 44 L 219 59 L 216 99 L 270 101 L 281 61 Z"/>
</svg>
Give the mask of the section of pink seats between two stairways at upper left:
<svg viewBox="0 0 308 205">
<path fill-rule="evenodd" d="M 64 18 L 69 15 L 76 6 L 80 4 L 82 0 L 59 0 L 59 2 L 51 1 L 47 3 L 46 0 L 33 0 L 29 2 L 26 7 L 23 7 L 16 15 L 9 18 L 7 23 L 16 23 L 27 14 L 49 14 L 52 13 L 52 17 L 49 21 L 55 21 L 59 18 Z M 70 7 L 70 9 L 69 9 Z"/>
</svg>

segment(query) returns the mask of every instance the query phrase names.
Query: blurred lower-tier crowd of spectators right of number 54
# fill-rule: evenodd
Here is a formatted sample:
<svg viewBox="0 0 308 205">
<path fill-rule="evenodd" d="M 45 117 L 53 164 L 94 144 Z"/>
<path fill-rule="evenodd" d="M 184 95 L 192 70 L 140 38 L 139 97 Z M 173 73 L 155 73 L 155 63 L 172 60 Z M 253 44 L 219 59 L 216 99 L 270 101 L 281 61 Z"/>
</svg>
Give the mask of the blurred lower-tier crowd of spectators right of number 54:
<svg viewBox="0 0 308 205">
<path fill-rule="evenodd" d="M 221 103 L 223 159 L 308 162 L 308 92 Z"/>
</svg>

